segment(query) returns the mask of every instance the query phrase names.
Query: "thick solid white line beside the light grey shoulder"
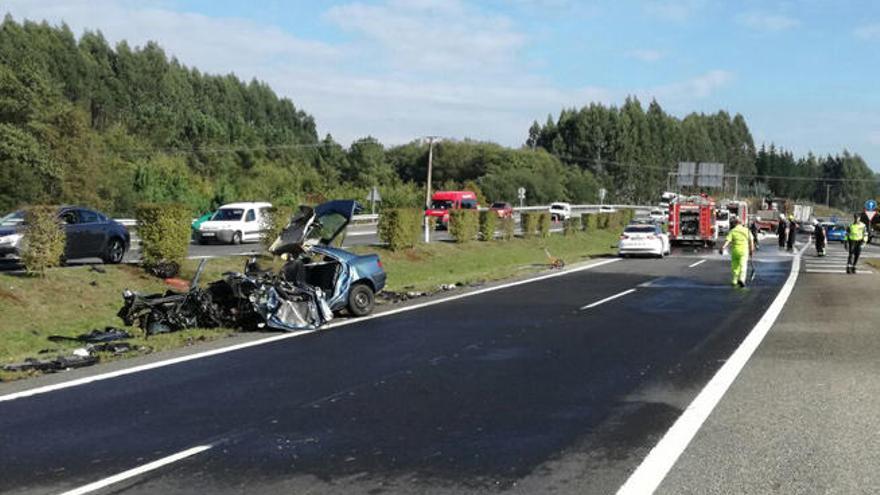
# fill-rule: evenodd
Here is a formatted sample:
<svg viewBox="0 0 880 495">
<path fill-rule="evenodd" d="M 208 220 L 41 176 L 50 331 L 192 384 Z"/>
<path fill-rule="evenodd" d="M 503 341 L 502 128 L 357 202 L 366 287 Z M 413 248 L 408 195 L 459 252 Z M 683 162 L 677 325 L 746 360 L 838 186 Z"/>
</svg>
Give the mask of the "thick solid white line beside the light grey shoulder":
<svg viewBox="0 0 880 495">
<path fill-rule="evenodd" d="M 663 438 L 648 453 L 638 468 L 626 480 L 626 483 L 617 490 L 617 495 L 648 495 L 660 486 L 666 478 L 669 470 L 678 461 L 679 456 L 690 444 L 691 440 L 703 426 L 706 418 L 724 397 L 727 389 L 745 367 L 749 358 L 752 357 L 758 345 L 764 340 L 767 332 L 773 326 L 776 318 L 782 312 L 785 302 L 794 289 L 800 271 L 800 261 L 803 249 L 791 261 L 791 271 L 788 279 L 783 284 L 776 299 L 767 308 L 764 316 L 749 332 L 742 344 L 733 352 L 715 376 L 703 387 L 700 394 L 688 405 L 687 409 L 675 421 L 675 424 L 663 435 Z"/>
</svg>

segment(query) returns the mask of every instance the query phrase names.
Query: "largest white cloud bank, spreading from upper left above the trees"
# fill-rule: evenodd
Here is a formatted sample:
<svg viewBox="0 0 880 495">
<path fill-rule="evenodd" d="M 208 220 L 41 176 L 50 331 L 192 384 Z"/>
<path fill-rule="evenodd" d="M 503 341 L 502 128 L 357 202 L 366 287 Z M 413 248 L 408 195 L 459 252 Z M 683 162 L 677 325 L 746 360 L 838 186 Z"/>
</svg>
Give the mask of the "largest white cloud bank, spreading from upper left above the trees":
<svg viewBox="0 0 880 495">
<path fill-rule="evenodd" d="M 532 72 L 529 39 L 509 19 L 462 0 L 389 0 L 333 8 L 325 18 L 354 38 L 307 39 L 271 25 L 129 0 L 6 0 L 17 19 L 66 21 L 111 41 L 156 40 L 169 55 L 212 73 L 264 80 L 314 115 L 343 143 L 373 135 L 386 144 L 420 135 L 521 144 L 532 120 L 628 94 L 691 109 L 732 80 L 716 70 L 656 88 L 562 87 Z M 648 58 L 651 55 L 642 54 Z"/>
</svg>

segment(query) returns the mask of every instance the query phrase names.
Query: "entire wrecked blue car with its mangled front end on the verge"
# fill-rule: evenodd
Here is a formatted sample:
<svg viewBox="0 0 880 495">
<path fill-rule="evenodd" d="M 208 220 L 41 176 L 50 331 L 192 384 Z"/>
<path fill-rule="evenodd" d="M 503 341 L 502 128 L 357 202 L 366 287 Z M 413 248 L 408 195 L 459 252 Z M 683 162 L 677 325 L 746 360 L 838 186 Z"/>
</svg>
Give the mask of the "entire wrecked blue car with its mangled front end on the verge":
<svg viewBox="0 0 880 495">
<path fill-rule="evenodd" d="M 201 287 L 203 260 L 188 291 L 125 291 L 118 316 L 147 335 L 221 326 L 305 330 L 321 327 L 342 310 L 365 316 L 385 286 L 379 257 L 330 246 L 360 208 L 341 200 L 301 206 L 269 249 L 286 260 L 278 272 L 261 269 L 252 258 L 242 273 L 226 273 Z"/>
</svg>

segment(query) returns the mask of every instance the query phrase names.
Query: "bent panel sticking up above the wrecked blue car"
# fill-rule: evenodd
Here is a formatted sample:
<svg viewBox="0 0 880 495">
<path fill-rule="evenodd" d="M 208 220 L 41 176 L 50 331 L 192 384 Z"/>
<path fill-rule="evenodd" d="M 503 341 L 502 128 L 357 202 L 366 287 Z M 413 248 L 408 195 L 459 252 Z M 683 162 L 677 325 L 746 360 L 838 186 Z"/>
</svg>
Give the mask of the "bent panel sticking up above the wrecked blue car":
<svg viewBox="0 0 880 495">
<path fill-rule="evenodd" d="M 361 205 L 354 200 L 328 201 L 314 208 L 300 206 L 269 247 L 269 252 L 276 256 L 298 256 L 315 245 L 329 245 L 345 231 L 351 217 L 361 210 Z"/>
</svg>

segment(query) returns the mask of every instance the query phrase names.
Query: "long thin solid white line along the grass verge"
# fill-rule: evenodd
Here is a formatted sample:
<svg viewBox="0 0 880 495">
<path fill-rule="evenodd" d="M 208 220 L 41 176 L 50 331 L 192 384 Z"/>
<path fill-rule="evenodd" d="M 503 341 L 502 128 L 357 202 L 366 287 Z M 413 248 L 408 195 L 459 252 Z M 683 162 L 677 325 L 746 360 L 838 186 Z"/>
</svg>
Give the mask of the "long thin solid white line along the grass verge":
<svg viewBox="0 0 880 495">
<path fill-rule="evenodd" d="M 423 302 L 423 303 L 419 303 L 419 304 L 413 304 L 412 306 L 405 306 L 402 308 L 392 309 L 389 311 L 384 311 L 382 313 L 376 313 L 376 314 L 372 314 L 370 316 L 364 316 L 362 318 L 349 318 L 347 320 L 336 321 L 336 322 L 329 323 L 329 324 L 321 327 L 319 330 L 326 330 L 326 329 L 331 329 L 331 328 L 342 327 L 342 326 L 351 325 L 354 323 L 360 323 L 362 321 L 369 321 L 369 320 L 372 320 L 375 318 L 384 318 L 386 316 L 396 315 L 399 313 L 405 313 L 408 311 L 414 311 L 416 309 L 421 309 L 421 308 L 428 307 L 428 306 L 434 306 L 437 304 L 443 304 L 443 303 L 449 302 L 449 301 L 456 301 L 458 299 L 463 299 L 466 297 L 472 297 L 472 296 L 476 296 L 479 294 L 485 294 L 487 292 L 507 289 L 510 287 L 516 287 L 518 285 L 530 284 L 532 282 L 538 282 L 541 280 L 547 280 L 550 278 L 561 277 L 561 276 L 569 275 L 572 273 L 582 272 L 585 270 L 590 270 L 590 269 L 597 268 L 602 265 L 607 265 L 609 263 L 614 263 L 617 261 L 620 261 L 620 258 L 612 258 L 612 259 L 608 259 L 608 260 L 599 261 L 596 263 L 591 263 L 589 265 L 580 266 L 577 268 L 570 268 L 567 270 L 549 273 L 547 275 L 541 275 L 539 277 L 529 278 L 529 279 L 525 279 L 525 280 L 517 280 L 516 282 L 508 282 L 505 284 L 501 284 L 501 285 L 497 285 L 497 286 L 493 286 L 493 287 L 487 287 L 485 289 L 479 289 L 479 290 L 467 292 L 464 294 L 457 294 L 454 296 L 444 297 L 442 299 L 436 299 L 433 301 L 427 301 L 427 302 Z M 7 395 L 0 395 L 0 402 L 21 399 L 23 397 L 31 397 L 33 395 L 54 392 L 55 390 L 76 387 L 79 385 L 85 385 L 87 383 L 93 383 L 93 382 L 97 382 L 97 381 L 107 380 L 110 378 L 116 378 L 119 376 L 130 375 L 132 373 L 139 373 L 141 371 L 147 371 L 147 370 L 152 370 L 152 369 L 156 369 L 156 368 L 162 368 L 164 366 L 170 366 L 173 364 L 184 363 L 187 361 L 193 361 L 195 359 L 202 359 L 202 358 L 206 358 L 206 357 L 210 357 L 210 356 L 216 356 L 218 354 L 225 354 L 227 352 L 233 352 L 233 351 L 238 351 L 241 349 L 247 349 L 248 347 L 254 347 L 254 346 L 258 346 L 258 345 L 269 344 L 271 342 L 276 342 L 279 340 L 285 340 L 285 339 L 290 339 L 290 338 L 294 338 L 294 337 L 300 337 L 303 335 L 308 335 L 308 334 L 317 332 L 319 330 L 301 330 L 298 332 L 282 333 L 282 334 L 278 334 L 278 335 L 273 335 L 271 337 L 266 337 L 265 339 L 254 340 L 251 342 L 244 342 L 241 344 L 235 344 L 235 345 L 231 345 L 228 347 L 221 347 L 219 349 L 213 349 L 210 351 L 204 351 L 204 352 L 199 352 L 196 354 L 190 354 L 187 356 L 180 356 L 180 357 L 176 357 L 176 358 L 172 358 L 172 359 L 166 359 L 163 361 L 156 361 L 155 363 L 143 364 L 140 366 L 133 366 L 131 368 L 125 368 L 125 369 L 121 369 L 121 370 L 117 370 L 117 371 L 110 371 L 108 373 L 101 373 L 98 375 L 86 376 L 83 378 L 77 378 L 75 380 L 70 380 L 68 382 L 61 382 L 61 383 L 56 383 L 53 385 L 45 385 L 42 387 L 36 387 L 36 388 L 32 388 L 30 390 L 22 390 L 21 392 L 15 392 L 15 393 L 7 394 Z"/>
</svg>

